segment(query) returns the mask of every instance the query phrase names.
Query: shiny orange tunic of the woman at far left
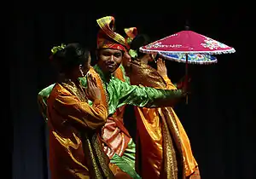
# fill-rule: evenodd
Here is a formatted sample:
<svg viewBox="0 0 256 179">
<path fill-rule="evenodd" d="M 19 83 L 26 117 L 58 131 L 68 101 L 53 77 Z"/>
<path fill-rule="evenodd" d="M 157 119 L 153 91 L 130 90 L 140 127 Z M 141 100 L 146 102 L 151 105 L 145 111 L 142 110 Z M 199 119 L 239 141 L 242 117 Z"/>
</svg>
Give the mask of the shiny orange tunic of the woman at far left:
<svg viewBox="0 0 256 179">
<path fill-rule="evenodd" d="M 98 137 L 108 117 L 102 102 L 90 107 L 69 82 L 55 84 L 47 104 L 51 178 L 113 178 Z"/>
</svg>

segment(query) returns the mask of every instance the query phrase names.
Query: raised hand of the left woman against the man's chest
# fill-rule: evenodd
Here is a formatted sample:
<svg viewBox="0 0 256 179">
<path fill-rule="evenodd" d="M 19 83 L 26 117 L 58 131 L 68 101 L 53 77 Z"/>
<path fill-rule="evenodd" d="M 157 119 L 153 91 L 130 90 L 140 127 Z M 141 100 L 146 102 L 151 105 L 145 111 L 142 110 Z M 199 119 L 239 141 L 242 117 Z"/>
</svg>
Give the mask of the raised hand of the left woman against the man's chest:
<svg viewBox="0 0 256 179">
<path fill-rule="evenodd" d="M 87 76 L 88 87 L 85 93 L 90 101 L 95 101 L 96 99 L 102 100 L 101 90 L 96 84 L 96 78 L 92 77 L 91 74 Z"/>
</svg>

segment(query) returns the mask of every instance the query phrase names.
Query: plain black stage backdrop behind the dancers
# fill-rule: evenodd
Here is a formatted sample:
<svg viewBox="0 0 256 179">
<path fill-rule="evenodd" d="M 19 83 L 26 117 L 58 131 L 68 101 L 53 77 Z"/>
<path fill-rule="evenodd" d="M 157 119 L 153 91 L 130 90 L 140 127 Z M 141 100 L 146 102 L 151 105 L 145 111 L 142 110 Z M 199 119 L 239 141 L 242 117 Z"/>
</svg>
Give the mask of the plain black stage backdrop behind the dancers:
<svg viewBox="0 0 256 179">
<path fill-rule="evenodd" d="M 182 31 L 189 20 L 190 29 L 230 45 L 235 54 L 217 55 L 218 64 L 189 65 L 192 95 L 189 105 L 175 109 L 188 133 L 201 178 L 255 178 L 255 85 L 254 57 L 249 49 L 253 29 L 247 23 L 253 12 L 230 9 L 129 14 L 94 13 L 15 13 L 10 26 L 13 60 L 10 61 L 10 103 L 14 126 L 12 146 L 15 179 L 46 179 L 47 154 L 45 124 L 38 111 L 37 95 L 55 82 L 49 64 L 50 49 L 60 43 L 79 42 L 96 47 L 96 19 L 113 15 L 116 31 L 137 26 L 139 32 L 154 39 Z M 81 11 L 84 12 L 84 11 Z M 165 12 L 165 11 L 163 11 Z M 253 40 L 252 40 L 253 41 Z M 254 49 L 255 51 L 255 49 Z M 184 75 L 184 64 L 166 62 L 173 82 Z"/>
</svg>

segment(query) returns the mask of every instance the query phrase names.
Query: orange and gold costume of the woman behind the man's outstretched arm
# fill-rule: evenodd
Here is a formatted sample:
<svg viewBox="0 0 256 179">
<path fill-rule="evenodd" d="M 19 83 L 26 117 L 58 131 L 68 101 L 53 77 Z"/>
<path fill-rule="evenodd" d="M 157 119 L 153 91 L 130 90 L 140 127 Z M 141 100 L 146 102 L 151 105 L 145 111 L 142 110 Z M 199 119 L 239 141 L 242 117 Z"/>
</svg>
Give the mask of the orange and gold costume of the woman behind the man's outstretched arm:
<svg viewBox="0 0 256 179">
<path fill-rule="evenodd" d="M 125 32 L 129 32 L 129 29 L 125 29 Z M 134 27 L 130 32 L 136 32 L 137 35 Z M 130 34 L 127 33 L 127 36 Z M 167 76 L 162 78 L 154 68 L 139 60 L 132 61 L 126 70 L 131 84 L 177 89 Z M 135 112 L 137 173 L 143 178 L 155 179 L 200 178 L 189 138 L 172 107 L 135 107 Z"/>
</svg>

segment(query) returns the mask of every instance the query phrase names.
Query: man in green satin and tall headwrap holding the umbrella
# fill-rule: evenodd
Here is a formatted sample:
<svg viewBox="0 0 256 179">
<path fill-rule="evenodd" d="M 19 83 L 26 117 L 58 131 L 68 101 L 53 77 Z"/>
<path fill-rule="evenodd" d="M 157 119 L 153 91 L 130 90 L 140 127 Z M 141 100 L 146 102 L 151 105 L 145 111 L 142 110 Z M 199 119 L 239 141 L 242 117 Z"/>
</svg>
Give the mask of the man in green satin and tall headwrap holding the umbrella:
<svg viewBox="0 0 256 179">
<path fill-rule="evenodd" d="M 116 113 L 116 109 L 125 104 L 138 107 L 172 106 L 174 101 L 177 101 L 177 99 L 185 95 L 185 89 L 155 90 L 152 88 L 131 86 L 116 78 L 119 76 L 121 70 L 119 66 L 126 51 L 125 38 L 113 32 L 113 29 L 109 26 L 114 22 L 113 17 L 104 17 L 97 20 L 97 22 L 101 27 L 97 38 L 98 61 L 94 69 L 90 68 L 89 73 L 96 78 L 98 87 L 102 89 L 102 101 L 105 103 L 106 107 L 108 107 L 108 122 L 102 128 L 104 149 L 113 164 L 118 165 L 121 170 L 129 173 L 131 177 L 138 178 L 139 176 L 137 176 L 136 172 L 133 170 L 134 166 L 131 166 L 134 164 L 134 162 L 131 162 L 132 159 L 121 158 L 124 156 L 124 153 L 130 152 L 130 148 L 128 147 L 129 142 L 131 146 L 134 143 L 131 141 L 129 133 L 125 133 L 122 120 L 115 118 L 114 113 Z M 80 78 L 80 80 L 81 83 L 86 86 L 86 78 Z M 51 87 L 46 88 L 38 94 L 39 101 L 45 101 L 45 99 L 47 99 L 50 88 Z M 40 104 L 45 105 L 45 103 Z M 109 130 L 110 128 L 112 130 Z M 128 165 L 126 165 L 124 161 L 127 161 L 126 163 Z"/>
</svg>

